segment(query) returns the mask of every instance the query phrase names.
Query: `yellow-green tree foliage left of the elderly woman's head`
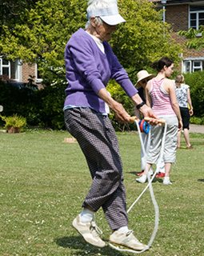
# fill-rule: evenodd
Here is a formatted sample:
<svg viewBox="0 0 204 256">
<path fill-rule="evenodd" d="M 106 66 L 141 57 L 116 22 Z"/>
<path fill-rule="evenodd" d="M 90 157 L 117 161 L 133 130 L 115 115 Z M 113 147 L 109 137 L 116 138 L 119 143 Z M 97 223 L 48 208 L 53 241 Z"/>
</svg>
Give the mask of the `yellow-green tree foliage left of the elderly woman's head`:
<svg viewBox="0 0 204 256">
<path fill-rule="evenodd" d="M 38 63 L 42 77 L 49 71 L 62 69 L 67 40 L 86 22 L 85 6 L 82 0 L 36 2 L 19 14 L 14 25 L 2 26 L 4 36 L 0 40 L 0 51 L 10 59 Z"/>
</svg>

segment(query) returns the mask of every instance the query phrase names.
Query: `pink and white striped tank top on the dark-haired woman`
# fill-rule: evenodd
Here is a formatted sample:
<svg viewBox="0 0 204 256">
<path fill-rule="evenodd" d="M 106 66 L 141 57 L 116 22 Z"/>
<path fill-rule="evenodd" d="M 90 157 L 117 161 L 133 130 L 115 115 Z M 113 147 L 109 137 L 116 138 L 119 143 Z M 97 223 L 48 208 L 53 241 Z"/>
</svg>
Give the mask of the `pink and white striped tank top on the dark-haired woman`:
<svg viewBox="0 0 204 256">
<path fill-rule="evenodd" d="M 152 110 L 154 114 L 159 116 L 170 115 L 176 116 L 170 102 L 170 94 L 164 90 L 162 84 L 165 78 L 156 81 L 155 78 L 151 80 L 150 97 L 152 101 Z"/>
</svg>

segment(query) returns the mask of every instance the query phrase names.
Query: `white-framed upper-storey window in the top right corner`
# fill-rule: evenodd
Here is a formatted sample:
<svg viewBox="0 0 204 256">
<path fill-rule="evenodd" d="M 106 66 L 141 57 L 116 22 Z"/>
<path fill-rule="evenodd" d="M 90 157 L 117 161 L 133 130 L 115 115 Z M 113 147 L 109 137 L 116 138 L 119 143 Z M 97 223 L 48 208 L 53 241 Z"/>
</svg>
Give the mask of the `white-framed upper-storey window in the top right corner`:
<svg viewBox="0 0 204 256">
<path fill-rule="evenodd" d="M 198 30 L 201 25 L 204 26 L 204 6 L 190 6 L 189 27 Z"/>
</svg>

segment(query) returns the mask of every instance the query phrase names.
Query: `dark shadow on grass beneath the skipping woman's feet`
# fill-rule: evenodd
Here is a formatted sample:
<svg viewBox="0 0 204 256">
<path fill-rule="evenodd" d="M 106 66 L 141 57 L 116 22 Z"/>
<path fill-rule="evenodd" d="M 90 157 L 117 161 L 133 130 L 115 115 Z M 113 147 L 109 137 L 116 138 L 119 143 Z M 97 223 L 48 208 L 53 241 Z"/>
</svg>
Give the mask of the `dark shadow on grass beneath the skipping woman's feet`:
<svg viewBox="0 0 204 256">
<path fill-rule="evenodd" d="M 91 246 L 86 243 L 81 236 L 71 236 L 71 237 L 63 237 L 63 238 L 55 238 L 54 242 L 61 247 L 77 250 L 73 252 L 74 256 L 82 256 L 82 255 L 103 255 L 103 256 L 122 256 L 117 250 L 111 249 L 109 246 L 98 248 L 95 246 Z M 67 254 L 68 255 L 68 254 Z M 69 254 L 72 255 L 72 254 Z"/>
</svg>

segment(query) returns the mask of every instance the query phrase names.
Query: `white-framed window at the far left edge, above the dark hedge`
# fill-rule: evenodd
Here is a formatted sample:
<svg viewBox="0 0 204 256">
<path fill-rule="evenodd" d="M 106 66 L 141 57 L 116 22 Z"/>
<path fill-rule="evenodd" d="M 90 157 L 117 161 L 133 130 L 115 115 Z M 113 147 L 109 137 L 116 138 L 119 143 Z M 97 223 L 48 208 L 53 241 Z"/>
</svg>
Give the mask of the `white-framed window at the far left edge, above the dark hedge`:
<svg viewBox="0 0 204 256">
<path fill-rule="evenodd" d="M 10 62 L 5 58 L 0 57 L 0 76 L 3 79 L 19 81 L 19 63 L 18 60 Z"/>
</svg>

